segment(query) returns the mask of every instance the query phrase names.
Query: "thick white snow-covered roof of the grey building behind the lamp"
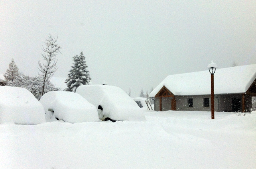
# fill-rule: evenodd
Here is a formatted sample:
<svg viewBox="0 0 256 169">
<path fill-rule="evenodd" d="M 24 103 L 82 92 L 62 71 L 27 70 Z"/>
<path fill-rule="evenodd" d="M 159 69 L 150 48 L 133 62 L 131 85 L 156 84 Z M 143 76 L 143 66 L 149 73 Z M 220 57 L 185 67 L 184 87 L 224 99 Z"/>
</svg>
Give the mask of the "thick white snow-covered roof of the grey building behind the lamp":
<svg viewBox="0 0 256 169">
<path fill-rule="evenodd" d="M 245 93 L 256 79 L 256 64 L 216 69 L 214 93 Z M 167 76 L 151 93 L 150 97 L 165 86 L 174 95 L 211 94 L 211 74 L 209 70 Z"/>
</svg>

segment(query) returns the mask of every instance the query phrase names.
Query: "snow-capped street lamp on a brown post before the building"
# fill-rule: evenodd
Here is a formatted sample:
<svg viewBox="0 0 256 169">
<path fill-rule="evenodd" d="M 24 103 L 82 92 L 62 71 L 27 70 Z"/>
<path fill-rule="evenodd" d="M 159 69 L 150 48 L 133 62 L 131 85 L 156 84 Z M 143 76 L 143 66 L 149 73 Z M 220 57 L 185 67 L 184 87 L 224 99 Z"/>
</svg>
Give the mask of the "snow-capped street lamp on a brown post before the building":
<svg viewBox="0 0 256 169">
<path fill-rule="evenodd" d="M 209 72 L 211 74 L 211 111 L 212 111 L 212 119 L 214 119 L 214 76 L 216 68 L 218 67 L 216 63 L 212 62 L 207 66 L 209 68 Z"/>
</svg>

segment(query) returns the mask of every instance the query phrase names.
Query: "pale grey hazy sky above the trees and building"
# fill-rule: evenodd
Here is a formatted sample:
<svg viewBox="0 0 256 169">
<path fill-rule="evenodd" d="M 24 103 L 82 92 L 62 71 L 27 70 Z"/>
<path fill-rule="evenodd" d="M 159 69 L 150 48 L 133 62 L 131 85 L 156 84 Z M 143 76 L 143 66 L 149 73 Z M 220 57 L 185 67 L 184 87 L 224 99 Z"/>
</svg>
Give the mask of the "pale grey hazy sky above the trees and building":
<svg viewBox="0 0 256 169">
<path fill-rule="evenodd" d="M 211 60 L 219 68 L 256 64 L 256 1 L 1 0 L 0 74 L 14 58 L 36 76 L 49 33 L 62 47 L 55 77 L 67 77 L 83 51 L 93 84 L 130 87 L 138 97 Z"/>
</svg>

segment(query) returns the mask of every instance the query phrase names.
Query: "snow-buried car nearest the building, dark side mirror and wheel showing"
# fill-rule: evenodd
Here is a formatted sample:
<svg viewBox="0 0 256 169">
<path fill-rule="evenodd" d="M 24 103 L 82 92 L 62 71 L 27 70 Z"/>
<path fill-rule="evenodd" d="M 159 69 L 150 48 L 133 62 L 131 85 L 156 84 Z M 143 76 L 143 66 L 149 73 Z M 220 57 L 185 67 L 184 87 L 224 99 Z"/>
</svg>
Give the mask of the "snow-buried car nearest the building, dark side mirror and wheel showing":
<svg viewBox="0 0 256 169">
<path fill-rule="evenodd" d="M 98 108 L 101 120 L 146 121 L 144 112 L 122 89 L 110 85 L 80 85 L 76 93 Z"/>
</svg>

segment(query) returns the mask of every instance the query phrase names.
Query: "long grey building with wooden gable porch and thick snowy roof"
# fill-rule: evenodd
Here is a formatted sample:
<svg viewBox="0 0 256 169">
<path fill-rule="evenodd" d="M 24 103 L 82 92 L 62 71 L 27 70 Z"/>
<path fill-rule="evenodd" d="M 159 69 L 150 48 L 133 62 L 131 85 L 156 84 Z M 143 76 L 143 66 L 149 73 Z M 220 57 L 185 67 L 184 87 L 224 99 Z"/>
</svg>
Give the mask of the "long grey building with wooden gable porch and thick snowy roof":
<svg viewBox="0 0 256 169">
<path fill-rule="evenodd" d="M 216 69 L 215 111 L 248 112 L 256 96 L 256 64 Z M 156 111 L 211 111 L 209 70 L 167 76 L 151 93 Z"/>
</svg>

